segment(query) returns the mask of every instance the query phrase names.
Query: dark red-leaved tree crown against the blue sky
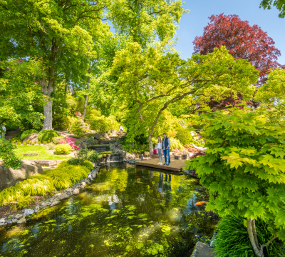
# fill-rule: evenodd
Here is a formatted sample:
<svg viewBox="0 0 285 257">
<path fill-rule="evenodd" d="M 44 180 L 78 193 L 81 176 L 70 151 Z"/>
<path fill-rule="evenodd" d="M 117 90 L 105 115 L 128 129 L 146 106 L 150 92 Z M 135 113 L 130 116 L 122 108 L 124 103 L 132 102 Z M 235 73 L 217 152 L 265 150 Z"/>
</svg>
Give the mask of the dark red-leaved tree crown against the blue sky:
<svg viewBox="0 0 285 257">
<path fill-rule="evenodd" d="M 264 83 L 270 69 L 281 67 L 276 61 L 280 51 L 259 26 L 249 26 L 248 21 L 242 21 L 235 14 L 212 15 L 209 20 L 203 36 L 196 36 L 193 41 L 195 53 L 208 54 L 226 46 L 234 58 L 247 59 L 260 71 L 258 85 Z"/>
</svg>

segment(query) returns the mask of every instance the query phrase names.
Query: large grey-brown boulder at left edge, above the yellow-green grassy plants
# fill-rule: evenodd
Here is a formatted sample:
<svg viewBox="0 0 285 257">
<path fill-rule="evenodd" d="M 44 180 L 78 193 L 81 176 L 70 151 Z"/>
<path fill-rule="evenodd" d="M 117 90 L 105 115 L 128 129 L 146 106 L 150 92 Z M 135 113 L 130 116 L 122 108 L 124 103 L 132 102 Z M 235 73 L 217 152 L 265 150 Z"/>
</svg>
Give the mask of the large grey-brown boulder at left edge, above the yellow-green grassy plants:
<svg viewBox="0 0 285 257">
<path fill-rule="evenodd" d="M 16 183 L 24 181 L 30 176 L 44 174 L 43 168 L 38 163 L 27 160 L 22 162 L 21 167 L 16 170 L 0 165 L 0 191 L 4 188 L 15 186 Z"/>
</svg>

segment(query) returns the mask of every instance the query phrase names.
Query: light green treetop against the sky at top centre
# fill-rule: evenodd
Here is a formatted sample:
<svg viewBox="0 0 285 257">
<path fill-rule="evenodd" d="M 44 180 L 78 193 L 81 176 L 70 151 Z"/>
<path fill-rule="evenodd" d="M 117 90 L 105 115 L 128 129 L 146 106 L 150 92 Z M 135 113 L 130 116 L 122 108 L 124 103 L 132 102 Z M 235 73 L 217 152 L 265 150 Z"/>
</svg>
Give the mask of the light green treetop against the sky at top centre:
<svg viewBox="0 0 285 257">
<path fill-rule="evenodd" d="M 155 41 L 155 36 L 160 41 L 175 36 L 177 23 L 188 12 L 182 7 L 184 3 L 181 0 L 117 0 L 110 3 L 106 16 L 119 34 L 145 49 Z"/>
</svg>

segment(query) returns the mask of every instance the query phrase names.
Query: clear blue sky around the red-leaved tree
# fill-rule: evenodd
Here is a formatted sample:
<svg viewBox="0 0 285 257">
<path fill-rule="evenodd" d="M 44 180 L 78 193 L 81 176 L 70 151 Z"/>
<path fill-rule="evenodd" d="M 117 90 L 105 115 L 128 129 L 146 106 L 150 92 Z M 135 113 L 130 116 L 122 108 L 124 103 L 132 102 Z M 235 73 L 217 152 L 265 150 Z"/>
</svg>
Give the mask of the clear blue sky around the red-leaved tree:
<svg viewBox="0 0 285 257">
<path fill-rule="evenodd" d="M 278 17 L 279 11 L 275 7 L 271 10 L 259 9 L 261 0 L 185 0 L 184 9 L 190 9 L 180 21 L 177 30 L 177 51 L 182 59 L 190 58 L 193 53 L 192 41 L 195 36 L 202 36 L 208 17 L 212 14 L 237 14 L 249 25 L 257 24 L 275 41 L 275 47 L 281 51 L 279 64 L 285 64 L 285 19 Z"/>
</svg>

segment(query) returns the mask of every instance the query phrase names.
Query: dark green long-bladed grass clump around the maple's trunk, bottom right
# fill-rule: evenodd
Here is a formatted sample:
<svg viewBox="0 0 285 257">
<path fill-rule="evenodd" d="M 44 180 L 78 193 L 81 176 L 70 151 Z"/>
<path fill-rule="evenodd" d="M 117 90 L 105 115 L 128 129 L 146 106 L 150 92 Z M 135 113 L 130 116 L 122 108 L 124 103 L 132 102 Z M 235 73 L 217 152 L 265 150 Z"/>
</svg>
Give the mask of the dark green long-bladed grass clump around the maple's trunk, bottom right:
<svg viewBox="0 0 285 257">
<path fill-rule="evenodd" d="M 254 256 L 244 221 L 245 219 L 240 216 L 224 216 L 222 218 L 217 226 L 217 239 L 214 241 L 214 256 Z M 268 231 L 266 223 L 261 220 L 257 220 L 256 223 L 259 242 L 262 244 L 268 242 L 272 238 L 272 235 Z M 285 245 L 281 241 L 274 241 L 267 248 L 267 252 L 268 256 L 283 256 L 285 254 Z"/>
</svg>

